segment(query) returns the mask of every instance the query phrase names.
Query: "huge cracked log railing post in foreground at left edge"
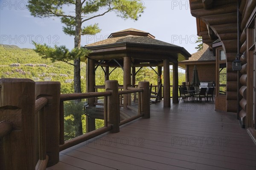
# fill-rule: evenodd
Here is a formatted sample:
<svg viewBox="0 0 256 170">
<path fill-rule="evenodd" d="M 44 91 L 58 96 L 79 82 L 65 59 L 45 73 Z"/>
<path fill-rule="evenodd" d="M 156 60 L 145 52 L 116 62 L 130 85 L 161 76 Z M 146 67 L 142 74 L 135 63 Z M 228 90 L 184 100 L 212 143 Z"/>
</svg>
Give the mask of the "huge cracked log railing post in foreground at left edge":
<svg viewBox="0 0 256 170">
<path fill-rule="evenodd" d="M 35 82 L 30 79 L 0 79 L 0 121 L 13 124 L 0 139 L 1 170 L 35 169 Z"/>
</svg>

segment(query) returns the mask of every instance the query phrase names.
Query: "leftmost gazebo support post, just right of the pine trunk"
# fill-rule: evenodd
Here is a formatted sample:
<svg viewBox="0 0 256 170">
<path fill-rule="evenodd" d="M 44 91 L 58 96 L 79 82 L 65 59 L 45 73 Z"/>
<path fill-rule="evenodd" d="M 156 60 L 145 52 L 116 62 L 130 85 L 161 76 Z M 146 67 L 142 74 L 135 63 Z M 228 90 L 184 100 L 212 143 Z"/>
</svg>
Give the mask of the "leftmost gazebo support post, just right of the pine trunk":
<svg viewBox="0 0 256 170">
<path fill-rule="evenodd" d="M 95 61 L 88 59 L 88 92 L 95 92 Z M 95 98 L 88 98 L 88 105 L 89 107 L 95 106 Z M 95 118 L 89 118 L 86 116 L 86 132 L 91 132 L 95 130 Z"/>
</svg>

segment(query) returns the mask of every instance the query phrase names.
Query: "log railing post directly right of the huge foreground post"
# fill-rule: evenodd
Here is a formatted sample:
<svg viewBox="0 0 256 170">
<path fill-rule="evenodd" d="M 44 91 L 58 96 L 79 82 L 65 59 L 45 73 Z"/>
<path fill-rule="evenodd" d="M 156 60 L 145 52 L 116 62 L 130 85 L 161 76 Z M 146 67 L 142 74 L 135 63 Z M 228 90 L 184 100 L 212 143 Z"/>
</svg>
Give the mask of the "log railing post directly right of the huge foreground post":
<svg viewBox="0 0 256 170">
<path fill-rule="evenodd" d="M 57 164 L 59 161 L 59 108 L 60 108 L 60 82 L 44 81 L 36 82 L 36 99 L 44 96 L 48 99 L 44 107 L 46 113 L 46 152 L 49 156 L 47 167 Z"/>
</svg>

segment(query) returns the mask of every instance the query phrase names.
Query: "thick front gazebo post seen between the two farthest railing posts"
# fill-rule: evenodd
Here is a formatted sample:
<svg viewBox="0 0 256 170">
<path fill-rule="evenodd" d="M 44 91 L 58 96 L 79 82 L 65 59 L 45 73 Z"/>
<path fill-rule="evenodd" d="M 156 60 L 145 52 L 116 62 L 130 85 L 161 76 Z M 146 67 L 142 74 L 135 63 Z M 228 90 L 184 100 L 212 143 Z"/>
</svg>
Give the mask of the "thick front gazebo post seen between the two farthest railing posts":
<svg viewBox="0 0 256 170">
<path fill-rule="evenodd" d="M 131 86 L 131 58 L 124 57 L 124 90 L 127 90 L 128 86 Z M 129 95 L 124 95 L 123 106 L 124 109 L 127 109 L 129 104 Z"/>
</svg>

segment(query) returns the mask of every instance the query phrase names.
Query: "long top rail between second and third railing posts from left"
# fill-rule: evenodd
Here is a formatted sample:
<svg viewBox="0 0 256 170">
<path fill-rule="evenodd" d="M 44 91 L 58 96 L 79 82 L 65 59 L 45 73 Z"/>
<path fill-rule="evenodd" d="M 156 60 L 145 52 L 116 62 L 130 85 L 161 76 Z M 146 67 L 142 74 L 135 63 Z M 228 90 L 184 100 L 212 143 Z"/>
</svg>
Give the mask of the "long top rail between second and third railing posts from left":
<svg viewBox="0 0 256 170">
<path fill-rule="evenodd" d="M 61 94 L 61 101 L 79 100 L 84 98 L 97 98 L 103 96 L 109 96 L 111 92 L 89 92 L 89 93 L 70 93 Z"/>
</svg>

